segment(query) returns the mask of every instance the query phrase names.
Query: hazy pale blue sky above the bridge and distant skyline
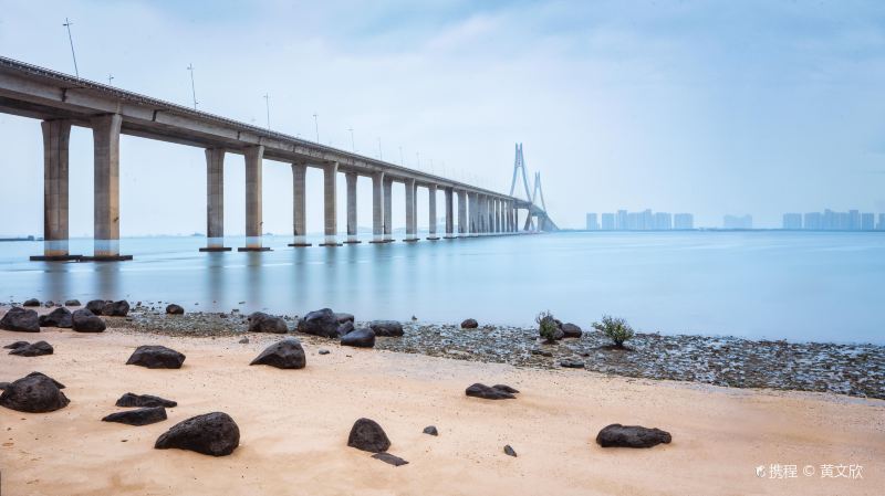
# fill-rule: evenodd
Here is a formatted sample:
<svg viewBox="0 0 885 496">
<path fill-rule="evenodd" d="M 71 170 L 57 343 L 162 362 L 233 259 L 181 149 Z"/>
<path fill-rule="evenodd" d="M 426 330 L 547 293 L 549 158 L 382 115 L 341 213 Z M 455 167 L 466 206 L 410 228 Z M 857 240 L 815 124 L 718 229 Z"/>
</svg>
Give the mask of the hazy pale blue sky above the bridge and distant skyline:
<svg viewBox="0 0 885 496">
<path fill-rule="evenodd" d="M 184 3 L 187 3 L 186 6 Z M 508 191 L 513 144 L 561 226 L 618 208 L 885 212 L 881 1 L 14 1 L 0 54 Z M 39 122 L 0 115 L 3 234 L 42 234 Z M 242 157 L 226 230 L 244 230 Z M 92 233 L 92 136 L 71 145 L 71 234 Z M 530 178 L 531 179 L 531 178 Z M 309 172 L 309 230 L 321 228 Z M 343 178 L 341 179 L 343 188 Z M 290 233 L 291 169 L 264 161 L 264 228 Z M 395 228 L 404 224 L 395 187 Z M 198 148 L 124 137 L 123 235 L 206 231 Z M 371 225 L 369 182 L 360 224 Z M 426 224 L 426 192 L 419 193 Z M 340 200 L 343 202 L 343 194 Z M 342 203 L 343 207 L 343 203 Z M 344 229 L 344 209 L 340 209 Z"/>
</svg>

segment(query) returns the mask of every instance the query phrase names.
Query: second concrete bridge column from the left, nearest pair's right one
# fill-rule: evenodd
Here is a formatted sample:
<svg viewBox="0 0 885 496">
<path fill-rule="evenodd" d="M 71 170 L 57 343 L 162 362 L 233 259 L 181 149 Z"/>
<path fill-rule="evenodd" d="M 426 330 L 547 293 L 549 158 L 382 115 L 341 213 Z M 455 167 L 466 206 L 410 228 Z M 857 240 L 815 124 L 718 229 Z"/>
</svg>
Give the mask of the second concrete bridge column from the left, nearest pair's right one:
<svg viewBox="0 0 885 496">
<path fill-rule="evenodd" d="M 119 255 L 119 127 L 123 117 L 107 114 L 92 118 L 95 155 L 94 260 L 128 260 Z"/>
</svg>

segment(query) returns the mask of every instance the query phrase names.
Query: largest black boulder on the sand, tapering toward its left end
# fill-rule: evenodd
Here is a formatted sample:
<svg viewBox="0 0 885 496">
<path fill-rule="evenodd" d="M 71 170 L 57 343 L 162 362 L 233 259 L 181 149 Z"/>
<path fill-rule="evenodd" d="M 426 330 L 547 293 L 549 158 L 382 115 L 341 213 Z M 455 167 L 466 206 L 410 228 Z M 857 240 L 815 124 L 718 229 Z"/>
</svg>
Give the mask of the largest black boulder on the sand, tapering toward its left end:
<svg viewBox="0 0 885 496">
<path fill-rule="evenodd" d="M 240 429 L 227 413 L 212 412 L 192 416 L 173 425 L 157 437 L 156 450 L 190 450 L 212 456 L 233 453 L 240 445 Z"/>
</svg>

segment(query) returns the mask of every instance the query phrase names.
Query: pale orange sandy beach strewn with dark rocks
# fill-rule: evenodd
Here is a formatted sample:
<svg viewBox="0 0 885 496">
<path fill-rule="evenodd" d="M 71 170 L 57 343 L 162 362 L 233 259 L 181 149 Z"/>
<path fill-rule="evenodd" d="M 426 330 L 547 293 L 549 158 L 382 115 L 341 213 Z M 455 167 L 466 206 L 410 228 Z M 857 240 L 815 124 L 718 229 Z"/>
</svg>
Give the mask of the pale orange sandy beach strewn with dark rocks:
<svg viewBox="0 0 885 496">
<path fill-rule="evenodd" d="M 54 355 L 2 355 L 0 380 L 44 372 L 66 386 L 66 408 L 29 414 L 0 408 L 2 494 L 10 495 L 876 495 L 885 487 L 885 401 L 834 394 L 739 390 L 590 371 L 342 348 L 301 337 L 302 370 L 250 367 L 279 336 L 192 338 L 108 329 L 77 334 L 0 331 L 0 344 L 49 341 Z M 187 355 L 180 370 L 124 365 L 158 344 Z M 331 351 L 319 355 L 320 348 Z M 506 383 L 517 400 L 465 395 L 473 382 Z M 178 401 L 164 422 L 100 420 L 125 392 Z M 154 450 L 189 416 L 222 411 L 240 446 L 211 457 Z M 366 416 L 387 432 L 394 467 L 346 446 Z M 673 443 L 602 448 L 611 423 L 656 426 Z M 436 425 L 439 436 L 421 433 Z M 518 457 L 503 454 L 506 444 Z M 795 478 L 756 467 L 796 465 Z M 822 477 L 821 465 L 861 465 L 863 478 Z M 803 467 L 815 468 L 812 476 Z"/>
</svg>

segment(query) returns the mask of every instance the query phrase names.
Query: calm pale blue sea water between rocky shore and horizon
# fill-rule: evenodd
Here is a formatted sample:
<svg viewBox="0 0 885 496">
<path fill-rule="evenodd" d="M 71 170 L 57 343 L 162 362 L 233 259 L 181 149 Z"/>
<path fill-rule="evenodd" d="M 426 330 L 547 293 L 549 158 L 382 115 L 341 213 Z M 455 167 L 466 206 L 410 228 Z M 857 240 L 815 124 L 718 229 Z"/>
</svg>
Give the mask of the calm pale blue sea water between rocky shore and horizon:
<svg viewBox="0 0 885 496">
<path fill-rule="evenodd" d="M 319 241 L 319 240 L 314 240 Z M 191 310 L 529 325 L 550 309 L 585 329 L 603 314 L 642 331 L 885 344 L 879 233 L 558 233 L 199 253 L 201 238 L 124 239 L 124 263 L 39 263 L 0 243 L 0 299 L 127 298 Z M 72 240 L 72 253 L 92 253 Z M 229 246 L 243 245 L 229 238 Z"/>
</svg>

